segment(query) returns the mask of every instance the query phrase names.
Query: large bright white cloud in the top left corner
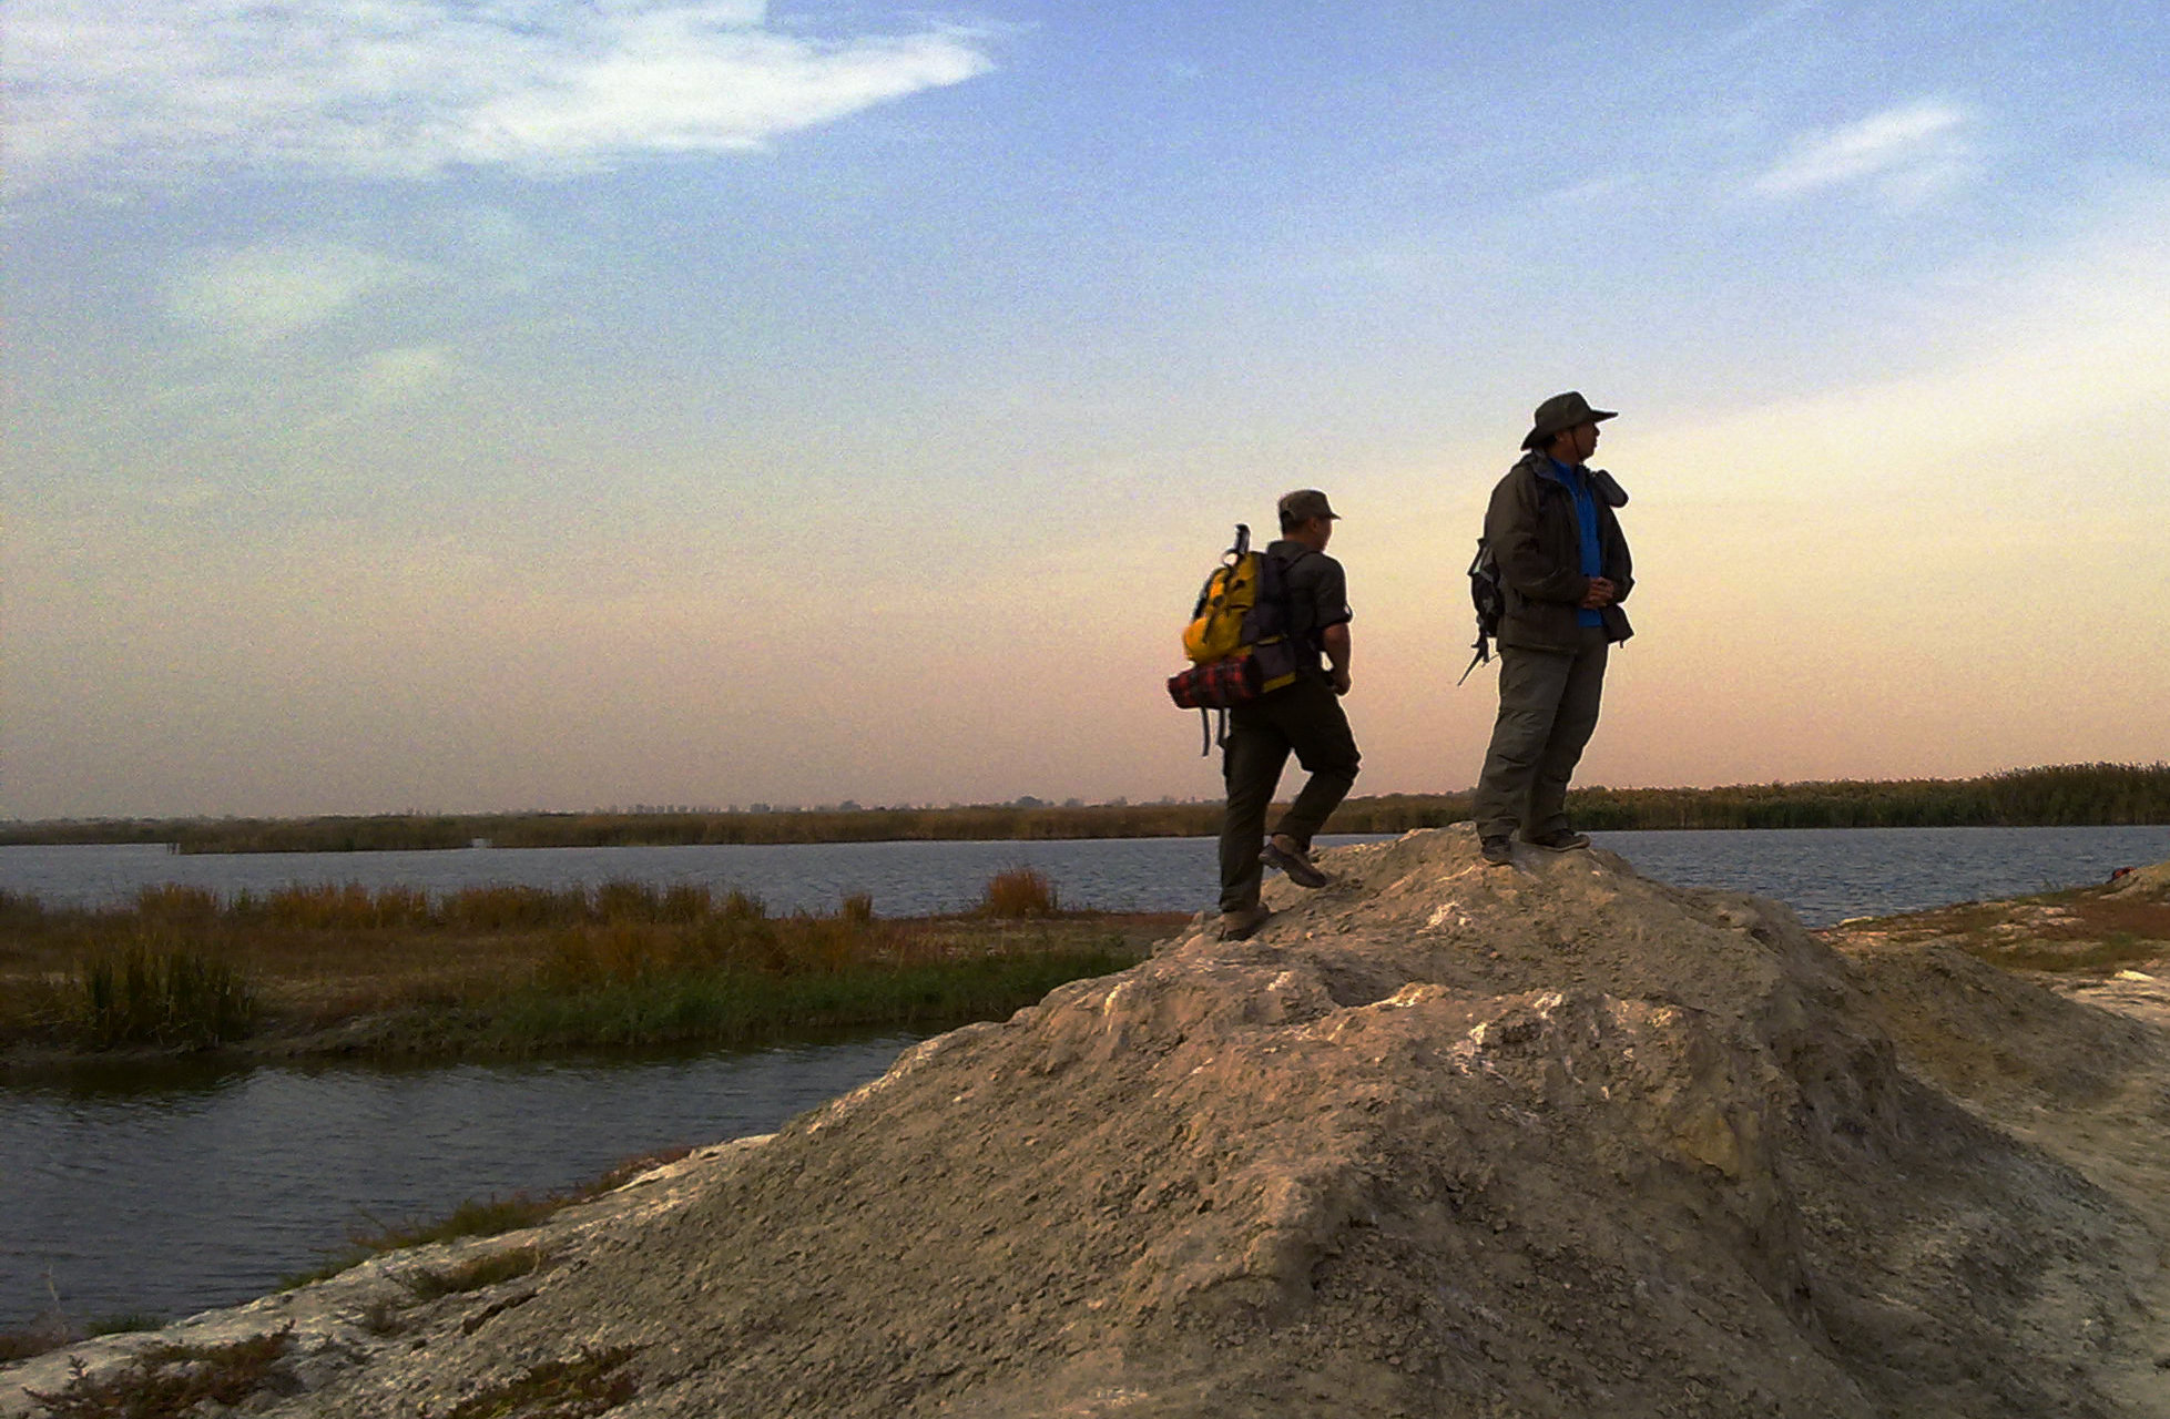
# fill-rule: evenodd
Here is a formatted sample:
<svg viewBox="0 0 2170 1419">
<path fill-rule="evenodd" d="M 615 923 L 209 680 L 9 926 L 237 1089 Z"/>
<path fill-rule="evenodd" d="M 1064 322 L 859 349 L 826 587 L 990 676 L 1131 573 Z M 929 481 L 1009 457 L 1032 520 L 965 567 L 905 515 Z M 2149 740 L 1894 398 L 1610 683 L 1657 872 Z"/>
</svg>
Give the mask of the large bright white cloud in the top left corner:
<svg viewBox="0 0 2170 1419">
<path fill-rule="evenodd" d="M 551 176 L 760 148 L 992 67 L 963 30 L 814 39 L 760 0 L 20 0 L 9 39 L 20 189 Z"/>
</svg>

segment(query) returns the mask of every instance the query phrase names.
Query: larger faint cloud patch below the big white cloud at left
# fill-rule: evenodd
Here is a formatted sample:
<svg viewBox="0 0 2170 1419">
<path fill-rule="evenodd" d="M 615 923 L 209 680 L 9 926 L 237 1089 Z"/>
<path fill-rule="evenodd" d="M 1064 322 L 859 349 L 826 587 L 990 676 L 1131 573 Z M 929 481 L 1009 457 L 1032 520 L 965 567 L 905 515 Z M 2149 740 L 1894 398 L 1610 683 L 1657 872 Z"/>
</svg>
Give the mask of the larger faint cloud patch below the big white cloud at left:
<svg viewBox="0 0 2170 1419">
<path fill-rule="evenodd" d="M 167 312 L 228 345 L 258 349 L 423 276 L 414 265 L 360 247 L 271 241 L 219 252 L 174 278 Z"/>
</svg>

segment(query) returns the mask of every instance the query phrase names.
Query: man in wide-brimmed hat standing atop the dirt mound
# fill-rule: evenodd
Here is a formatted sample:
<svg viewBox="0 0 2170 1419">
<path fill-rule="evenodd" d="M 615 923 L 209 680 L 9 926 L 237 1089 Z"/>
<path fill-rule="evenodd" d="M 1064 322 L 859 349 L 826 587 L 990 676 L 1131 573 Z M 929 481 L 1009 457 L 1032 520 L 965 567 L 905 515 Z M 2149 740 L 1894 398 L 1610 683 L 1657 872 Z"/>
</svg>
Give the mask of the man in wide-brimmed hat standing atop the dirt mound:
<svg viewBox="0 0 2170 1419">
<path fill-rule="evenodd" d="M 1499 718 L 1493 723 L 1476 820 L 1484 861 L 1510 864 L 1515 835 L 1565 853 L 1591 840 L 1567 824 L 1567 781 L 1597 729 L 1606 653 L 1628 640 L 1621 601 L 1634 586 L 1628 538 L 1614 508 L 1628 495 L 1591 469 L 1595 410 L 1569 391 L 1536 406 L 1523 456 L 1484 512 L 1484 540 L 1499 562 Z"/>
</svg>

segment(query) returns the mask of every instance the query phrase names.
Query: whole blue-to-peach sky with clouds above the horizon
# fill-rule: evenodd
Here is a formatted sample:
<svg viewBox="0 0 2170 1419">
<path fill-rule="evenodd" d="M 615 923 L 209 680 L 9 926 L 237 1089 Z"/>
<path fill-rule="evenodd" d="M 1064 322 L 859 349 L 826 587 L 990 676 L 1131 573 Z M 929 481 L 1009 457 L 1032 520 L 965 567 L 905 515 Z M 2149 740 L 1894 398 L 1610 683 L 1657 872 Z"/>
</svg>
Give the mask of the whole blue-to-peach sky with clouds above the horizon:
<svg viewBox="0 0 2170 1419">
<path fill-rule="evenodd" d="M 2157 4 L 9 0 L 0 82 L 4 818 L 1211 798 L 1300 486 L 1356 792 L 1463 790 L 1567 388 L 1580 783 L 2170 757 Z"/>
</svg>

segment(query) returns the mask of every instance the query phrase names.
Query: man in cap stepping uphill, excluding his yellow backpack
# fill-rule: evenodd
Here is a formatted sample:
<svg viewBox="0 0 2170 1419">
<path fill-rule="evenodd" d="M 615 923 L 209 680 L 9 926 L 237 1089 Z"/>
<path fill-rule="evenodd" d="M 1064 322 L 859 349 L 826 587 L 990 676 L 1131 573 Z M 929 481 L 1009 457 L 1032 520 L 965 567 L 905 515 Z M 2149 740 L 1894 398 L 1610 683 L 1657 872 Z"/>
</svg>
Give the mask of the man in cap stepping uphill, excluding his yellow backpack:
<svg viewBox="0 0 2170 1419">
<path fill-rule="evenodd" d="M 1295 683 L 1228 712 L 1222 775 L 1228 814 L 1222 818 L 1220 933 L 1243 939 L 1269 911 L 1259 903 L 1267 866 L 1304 887 L 1324 887 L 1311 861 L 1311 838 L 1356 783 L 1356 736 L 1341 699 L 1350 692 L 1350 608 L 1341 562 L 1326 555 L 1339 514 L 1317 488 L 1280 499 L 1280 540 L 1267 545 L 1287 608 L 1287 636 L 1298 653 Z M 1324 657 L 1324 660 L 1322 660 Z M 1289 753 L 1311 777 L 1295 803 L 1265 835 L 1265 814 Z"/>
</svg>

